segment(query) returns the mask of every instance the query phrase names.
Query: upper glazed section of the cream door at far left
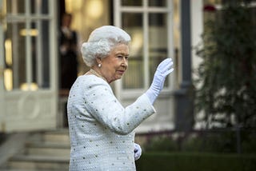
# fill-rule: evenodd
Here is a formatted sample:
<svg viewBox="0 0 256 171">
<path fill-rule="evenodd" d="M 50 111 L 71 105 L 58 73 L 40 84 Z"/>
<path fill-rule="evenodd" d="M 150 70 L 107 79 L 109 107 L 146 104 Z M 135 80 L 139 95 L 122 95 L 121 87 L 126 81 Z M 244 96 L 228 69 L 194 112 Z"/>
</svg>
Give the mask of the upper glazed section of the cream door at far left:
<svg viewBox="0 0 256 171">
<path fill-rule="evenodd" d="M 4 82 L 6 90 L 50 87 L 50 3 L 5 1 Z"/>
</svg>

